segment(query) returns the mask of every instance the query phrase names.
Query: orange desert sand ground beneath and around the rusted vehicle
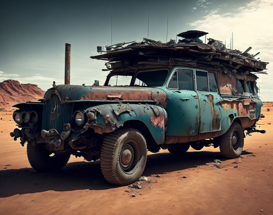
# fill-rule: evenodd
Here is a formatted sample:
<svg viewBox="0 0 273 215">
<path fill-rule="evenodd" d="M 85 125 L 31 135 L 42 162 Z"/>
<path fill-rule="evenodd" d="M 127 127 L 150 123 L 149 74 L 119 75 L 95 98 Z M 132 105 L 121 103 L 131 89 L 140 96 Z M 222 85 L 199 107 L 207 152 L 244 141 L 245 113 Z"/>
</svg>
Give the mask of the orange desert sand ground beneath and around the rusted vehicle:
<svg viewBox="0 0 273 215">
<path fill-rule="evenodd" d="M 240 158 L 213 147 L 182 157 L 149 152 L 148 181 L 136 189 L 108 184 L 98 161 L 74 156 L 59 172 L 37 173 L 26 146 L 9 136 L 12 110 L 0 112 L 0 214 L 273 214 L 273 103 L 262 114 L 258 129 L 266 133 L 247 136 Z"/>
</svg>

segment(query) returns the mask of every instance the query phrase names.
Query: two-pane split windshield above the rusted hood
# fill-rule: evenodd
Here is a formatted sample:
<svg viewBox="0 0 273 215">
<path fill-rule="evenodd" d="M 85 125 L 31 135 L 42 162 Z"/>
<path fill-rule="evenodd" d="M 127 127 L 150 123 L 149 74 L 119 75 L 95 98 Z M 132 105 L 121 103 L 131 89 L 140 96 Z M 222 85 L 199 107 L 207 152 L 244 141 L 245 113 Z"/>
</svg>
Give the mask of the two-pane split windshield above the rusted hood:
<svg viewBox="0 0 273 215">
<path fill-rule="evenodd" d="M 126 72 L 122 75 L 112 75 L 107 86 L 130 86 L 135 72 Z M 141 71 L 133 82 L 133 86 L 159 87 L 163 86 L 168 76 L 168 70 Z"/>
</svg>

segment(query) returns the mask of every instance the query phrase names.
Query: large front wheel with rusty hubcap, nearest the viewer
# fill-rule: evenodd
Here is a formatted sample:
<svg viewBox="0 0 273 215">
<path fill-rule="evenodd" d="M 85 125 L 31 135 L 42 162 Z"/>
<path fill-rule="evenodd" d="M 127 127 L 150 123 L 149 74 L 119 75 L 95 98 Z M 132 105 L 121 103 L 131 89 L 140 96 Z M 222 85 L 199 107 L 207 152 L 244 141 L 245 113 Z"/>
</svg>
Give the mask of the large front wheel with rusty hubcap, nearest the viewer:
<svg viewBox="0 0 273 215">
<path fill-rule="evenodd" d="M 136 129 L 120 129 L 107 133 L 101 146 L 101 171 L 111 184 L 128 185 L 144 171 L 147 146 Z"/>
</svg>

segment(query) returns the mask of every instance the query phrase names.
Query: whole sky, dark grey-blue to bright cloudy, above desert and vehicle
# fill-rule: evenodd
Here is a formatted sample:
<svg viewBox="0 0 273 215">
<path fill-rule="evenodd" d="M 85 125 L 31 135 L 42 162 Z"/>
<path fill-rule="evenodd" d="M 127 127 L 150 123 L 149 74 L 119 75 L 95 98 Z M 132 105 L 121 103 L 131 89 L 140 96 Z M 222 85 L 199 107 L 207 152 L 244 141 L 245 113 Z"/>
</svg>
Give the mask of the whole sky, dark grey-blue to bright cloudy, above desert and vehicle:
<svg viewBox="0 0 273 215">
<path fill-rule="evenodd" d="M 6 79 L 49 89 L 64 83 L 65 43 L 71 43 L 71 84 L 102 85 L 104 61 L 90 59 L 97 46 L 147 38 L 166 42 L 188 30 L 209 32 L 233 49 L 269 62 L 258 74 L 263 101 L 273 101 L 273 0 L 19 1 L 0 0 L 0 82 Z M 168 17 L 168 37 L 167 37 Z M 204 42 L 205 38 L 201 38 Z"/>
</svg>

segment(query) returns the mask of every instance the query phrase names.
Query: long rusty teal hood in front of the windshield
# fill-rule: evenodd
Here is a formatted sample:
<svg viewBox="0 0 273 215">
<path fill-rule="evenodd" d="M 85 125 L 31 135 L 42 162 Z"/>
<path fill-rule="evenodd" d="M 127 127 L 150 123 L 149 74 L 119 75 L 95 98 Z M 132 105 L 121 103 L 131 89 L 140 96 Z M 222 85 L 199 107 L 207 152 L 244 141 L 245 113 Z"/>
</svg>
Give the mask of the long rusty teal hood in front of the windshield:
<svg viewBox="0 0 273 215">
<path fill-rule="evenodd" d="M 158 105 L 162 107 L 166 107 L 167 98 L 163 90 L 151 87 L 58 85 L 49 89 L 45 93 L 44 99 L 49 99 L 51 93 L 57 93 L 63 102 L 79 100 L 158 101 Z"/>
</svg>

